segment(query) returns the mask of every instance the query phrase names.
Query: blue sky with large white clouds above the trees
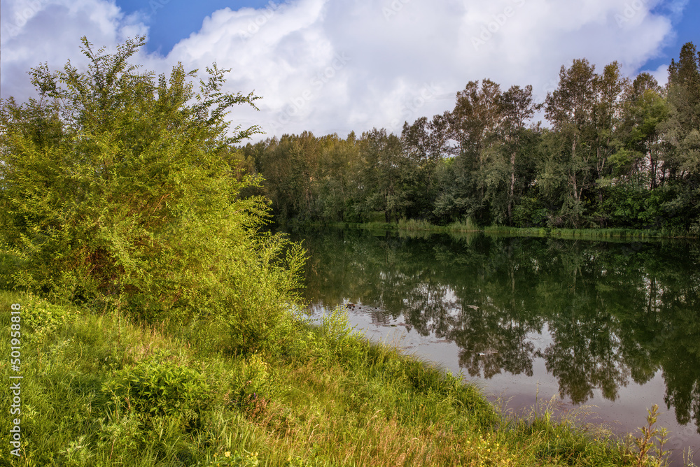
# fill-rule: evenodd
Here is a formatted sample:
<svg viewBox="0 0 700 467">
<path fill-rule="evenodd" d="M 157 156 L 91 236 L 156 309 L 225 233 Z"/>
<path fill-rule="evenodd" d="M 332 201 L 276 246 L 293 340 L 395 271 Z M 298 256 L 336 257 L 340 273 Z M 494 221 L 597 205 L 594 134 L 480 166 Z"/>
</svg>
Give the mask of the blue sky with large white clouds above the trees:
<svg viewBox="0 0 700 467">
<path fill-rule="evenodd" d="M 664 84 L 682 45 L 700 47 L 700 0 L 2 0 L 0 97 L 36 96 L 27 72 L 86 59 L 80 37 L 114 50 L 146 35 L 134 62 L 169 73 L 181 62 L 231 69 L 225 90 L 261 96 L 232 109 L 252 141 L 386 128 L 454 108 L 456 92 L 489 78 L 533 85 L 543 101 L 561 66 Z"/>
</svg>

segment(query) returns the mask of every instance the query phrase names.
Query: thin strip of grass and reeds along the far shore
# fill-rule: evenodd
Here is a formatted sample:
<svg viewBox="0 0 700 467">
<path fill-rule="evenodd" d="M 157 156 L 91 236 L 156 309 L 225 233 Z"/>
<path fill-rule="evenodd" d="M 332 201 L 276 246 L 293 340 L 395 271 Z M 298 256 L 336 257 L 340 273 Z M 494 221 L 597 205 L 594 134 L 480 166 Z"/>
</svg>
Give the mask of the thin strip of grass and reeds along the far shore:
<svg viewBox="0 0 700 467">
<path fill-rule="evenodd" d="M 591 240 L 605 240 L 610 238 L 628 238 L 640 240 L 645 238 L 698 238 L 689 232 L 653 230 L 653 229 L 549 229 L 547 227 L 479 227 L 474 222 L 453 222 L 444 226 L 430 224 L 424 220 L 400 220 L 398 223 L 386 222 L 335 222 L 328 224 L 331 227 L 368 229 L 368 230 L 398 230 L 398 231 L 426 231 L 436 233 L 461 233 L 484 232 L 491 235 L 530 236 L 530 237 L 555 237 L 555 238 L 585 238 Z"/>
</svg>

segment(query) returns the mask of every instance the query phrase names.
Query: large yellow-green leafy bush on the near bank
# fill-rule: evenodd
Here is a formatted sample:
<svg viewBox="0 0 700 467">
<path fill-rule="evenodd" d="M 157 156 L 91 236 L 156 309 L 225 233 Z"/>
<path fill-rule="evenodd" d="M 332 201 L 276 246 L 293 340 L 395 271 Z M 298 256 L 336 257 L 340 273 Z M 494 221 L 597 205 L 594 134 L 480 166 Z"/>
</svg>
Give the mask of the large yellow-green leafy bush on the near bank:
<svg viewBox="0 0 700 467">
<path fill-rule="evenodd" d="M 83 38 L 86 71 L 43 64 L 38 99 L 1 102 L 1 253 L 21 266 L 5 279 L 142 319 L 219 317 L 258 348 L 295 301 L 303 261 L 261 233 L 269 201 L 241 195 L 260 181 L 229 164 L 258 128 L 230 131 L 224 117 L 258 97 L 225 92 L 216 64 L 197 93 L 181 64 L 139 73 L 128 61 L 142 45 L 108 54 Z"/>
</svg>

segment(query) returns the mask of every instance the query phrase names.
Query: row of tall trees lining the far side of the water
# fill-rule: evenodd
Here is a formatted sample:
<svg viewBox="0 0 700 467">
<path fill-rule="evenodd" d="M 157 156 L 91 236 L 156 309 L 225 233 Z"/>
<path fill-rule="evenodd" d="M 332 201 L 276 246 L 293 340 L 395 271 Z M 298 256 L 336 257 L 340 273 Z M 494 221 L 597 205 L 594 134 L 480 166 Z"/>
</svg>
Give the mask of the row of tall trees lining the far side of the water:
<svg viewBox="0 0 700 467">
<path fill-rule="evenodd" d="M 539 110 L 549 125 L 533 122 Z M 264 178 L 278 220 L 700 233 L 700 52 L 686 43 L 666 86 L 613 62 L 561 67 L 544 102 L 533 88 L 468 82 L 454 109 L 372 129 L 283 135 L 235 148 Z"/>
</svg>

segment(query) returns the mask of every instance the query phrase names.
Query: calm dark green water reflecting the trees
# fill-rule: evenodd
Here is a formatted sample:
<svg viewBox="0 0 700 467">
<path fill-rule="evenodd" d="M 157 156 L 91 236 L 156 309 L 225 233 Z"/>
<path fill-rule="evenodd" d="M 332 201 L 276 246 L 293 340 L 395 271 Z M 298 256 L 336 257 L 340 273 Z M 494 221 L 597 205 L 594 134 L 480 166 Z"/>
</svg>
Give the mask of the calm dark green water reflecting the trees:
<svg viewBox="0 0 700 467">
<path fill-rule="evenodd" d="M 674 465 L 700 451 L 700 246 L 472 235 L 294 234 L 316 313 L 355 303 L 370 338 L 523 410 L 555 394 L 617 433 L 659 404 Z M 360 308 L 361 307 L 361 308 Z M 700 459 L 700 454 L 696 460 Z"/>
</svg>

